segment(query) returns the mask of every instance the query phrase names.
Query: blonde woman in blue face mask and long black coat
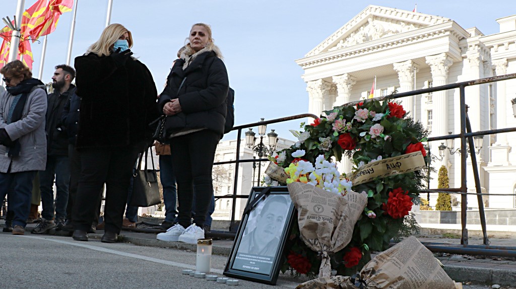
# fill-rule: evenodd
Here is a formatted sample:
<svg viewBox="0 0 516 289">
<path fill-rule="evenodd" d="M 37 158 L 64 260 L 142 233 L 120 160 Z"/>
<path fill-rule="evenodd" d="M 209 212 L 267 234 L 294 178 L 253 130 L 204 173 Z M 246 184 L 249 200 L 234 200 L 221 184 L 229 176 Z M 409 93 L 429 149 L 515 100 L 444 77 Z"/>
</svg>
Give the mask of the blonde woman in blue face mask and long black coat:
<svg viewBox="0 0 516 289">
<path fill-rule="evenodd" d="M 152 144 L 148 124 L 159 116 L 156 86 L 147 67 L 131 57 L 132 46 L 131 31 L 111 24 L 85 55 L 75 58 L 76 94 L 81 98 L 75 148 L 81 172 L 72 212 L 74 240 L 88 240 L 105 183 L 101 241 L 117 241 L 133 165 L 138 152 Z"/>
</svg>

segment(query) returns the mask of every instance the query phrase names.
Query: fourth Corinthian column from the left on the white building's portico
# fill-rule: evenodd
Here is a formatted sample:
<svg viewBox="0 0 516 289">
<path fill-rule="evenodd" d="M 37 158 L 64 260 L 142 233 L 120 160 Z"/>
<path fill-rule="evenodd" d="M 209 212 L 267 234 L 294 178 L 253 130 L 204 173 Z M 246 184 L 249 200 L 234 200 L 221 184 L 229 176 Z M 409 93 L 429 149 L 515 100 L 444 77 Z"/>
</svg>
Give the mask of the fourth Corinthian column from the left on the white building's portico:
<svg viewBox="0 0 516 289">
<path fill-rule="evenodd" d="M 426 57 L 426 63 L 430 66 L 432 73 L 433 87 L 443 86 L 448 82 L 448 69 L 453 61 L 446 53 L 432 55 Z M 440 136 L 448 134 L 448 99 L 447 91 L 436 91 L 432 93 L 432 136 Z M 432 154 L 438 154 L 437 147 L 439 144 L 432 144 Z M 448 155 L 445 155 L 443 164 L 446 163 Z M 436 166 L 437 167 L 437 166 Z"/>
</svg>

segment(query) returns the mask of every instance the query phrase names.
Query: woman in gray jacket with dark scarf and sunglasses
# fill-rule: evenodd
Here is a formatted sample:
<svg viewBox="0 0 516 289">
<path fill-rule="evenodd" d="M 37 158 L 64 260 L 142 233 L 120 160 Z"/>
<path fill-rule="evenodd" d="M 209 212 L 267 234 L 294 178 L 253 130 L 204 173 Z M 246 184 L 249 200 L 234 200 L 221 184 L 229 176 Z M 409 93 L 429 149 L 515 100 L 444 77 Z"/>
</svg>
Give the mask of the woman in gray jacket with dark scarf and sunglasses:
<svg viewBox="0 0 516 289">
<path fill-rule="evenodd" d="M 12 234 L 23 235 L 33 179 L 46 163 L 46 90 L 20 60 L 7 63 L 0 73 L 7 86 L 0 95 L 0 198 L 11 192 Z"/>
</svg>

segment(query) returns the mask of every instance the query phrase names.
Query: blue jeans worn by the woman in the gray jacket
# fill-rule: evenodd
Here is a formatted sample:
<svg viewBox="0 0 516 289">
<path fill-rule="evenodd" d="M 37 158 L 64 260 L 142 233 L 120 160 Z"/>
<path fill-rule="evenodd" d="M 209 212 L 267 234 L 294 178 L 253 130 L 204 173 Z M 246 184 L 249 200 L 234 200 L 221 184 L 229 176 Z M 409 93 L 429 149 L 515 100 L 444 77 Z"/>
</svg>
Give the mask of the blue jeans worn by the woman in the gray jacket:
<svg viewBox="0 0 516 289">
<path fill-rule="evenodd" d="M 36 171 L 19 173 L 0 173 L 0 196 L 9 192 L 8 208 L 14 212 L 12 225 L 27 225 L 26 220 L 30 212 L 30 200 L 32 198 L 32 182 Z"/>
</svg>

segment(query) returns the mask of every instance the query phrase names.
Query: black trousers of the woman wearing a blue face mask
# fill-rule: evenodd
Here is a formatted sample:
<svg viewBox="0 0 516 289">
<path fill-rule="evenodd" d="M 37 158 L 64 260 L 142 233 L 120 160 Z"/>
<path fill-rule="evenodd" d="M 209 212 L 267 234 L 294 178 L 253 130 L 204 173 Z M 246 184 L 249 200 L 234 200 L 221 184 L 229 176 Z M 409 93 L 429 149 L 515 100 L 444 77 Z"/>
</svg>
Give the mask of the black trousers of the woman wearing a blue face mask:
<svg viewBox="0 0 516 289">
<path fill-rule="evenodd" d="M 80 177 L 72 222 L 75 230 L 88 231 L 96 214 L 102 186 L 106 184 L 105 231 L 120 233 L 127 203 L 135 147 L 87 148 L 80 150 Z"/>
</svg>

